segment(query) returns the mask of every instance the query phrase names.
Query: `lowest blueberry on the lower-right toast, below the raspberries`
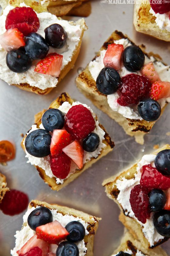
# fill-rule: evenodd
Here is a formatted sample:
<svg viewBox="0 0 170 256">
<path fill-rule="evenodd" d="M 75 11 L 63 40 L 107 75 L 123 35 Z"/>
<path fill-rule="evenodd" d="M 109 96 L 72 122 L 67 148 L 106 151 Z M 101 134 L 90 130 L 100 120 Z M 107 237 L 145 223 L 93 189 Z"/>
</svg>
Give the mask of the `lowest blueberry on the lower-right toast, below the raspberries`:
<svg viewBox="0 0 170 256">
<path fill-rule="evenodd" d="M 170 237 L 170 211 L 162 210 L 156 212 L 153 223 L 156 231 L 165 237 Z"/>
</svg>

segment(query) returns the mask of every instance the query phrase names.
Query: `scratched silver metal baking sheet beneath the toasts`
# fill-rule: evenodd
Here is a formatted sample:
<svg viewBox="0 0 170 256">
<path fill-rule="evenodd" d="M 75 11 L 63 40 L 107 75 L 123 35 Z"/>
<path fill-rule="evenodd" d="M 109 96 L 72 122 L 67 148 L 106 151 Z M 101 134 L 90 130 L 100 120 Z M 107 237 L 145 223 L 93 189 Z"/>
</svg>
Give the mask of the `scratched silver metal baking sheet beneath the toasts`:
<svg viewBox="0 0 170 256">
<path fill-rule="evenodd" d="M 77 20 L 76 17 L 71 19 Z M 36 95 L 0 81 L 0 140 L 10 140 L 16 145 L 16 158 L 8 162 L 7 166 L 0 166 L 0 171 L 7 177 L 10 188 L 24 191 L 29 195 L 30 200 L 39 199 L 48 203 L 58 203 L 101 217 L 95 236 L 94 255 L 109 256 L 119 245 L 124 227 L 118 221 L 117 205 L 106 196 L 101 183 L 137 161 L 143 154 L 152 151 L 155 144 L 170 143 L 170 136 L 167 135 L 170 134 L 170 106 L 166 108 L 164 115 L 151 132 L 145 136 L 144 145 L 139 145 L 134 138 L 127 136 L 116 122 L 94 107 L 77 90 L 75 78 L 78 70 L 85 68 L 95 52 L 116 29 L 127 34 L 136 44 L 145 44 L 148 52 L 158 53 L 168 64 L 170 64 L 170 43 L 135 31 L 133 4 L 109 4 L 108 1 L 93 0 L 92 13 L 86 18 L 86 22 L 89 29 L 84 34 L 75 67 L 50 94 Z M 100 123 L 105 126 L 114 140 L 115 148 L 77 180 L 56 192 L 50 190 L 39 177 L 36 169 L 26 163 L 20 142 L 21 133 L 29 130 L 34 123 L 34 114 L 43 108 L 48 108 L 63 91 L 68 92 L 74 99 L 86 103 L 96 112 Z M 0 256 L 10 255 L 10 249 L 15 245 L 15 231 L 20 230 L 22 226 L 22 216 L 23 214 L 10 217 L 0 212 Z M 170 251 L 168 241 L 163 247 L 167 253 Z"/>
</svg>

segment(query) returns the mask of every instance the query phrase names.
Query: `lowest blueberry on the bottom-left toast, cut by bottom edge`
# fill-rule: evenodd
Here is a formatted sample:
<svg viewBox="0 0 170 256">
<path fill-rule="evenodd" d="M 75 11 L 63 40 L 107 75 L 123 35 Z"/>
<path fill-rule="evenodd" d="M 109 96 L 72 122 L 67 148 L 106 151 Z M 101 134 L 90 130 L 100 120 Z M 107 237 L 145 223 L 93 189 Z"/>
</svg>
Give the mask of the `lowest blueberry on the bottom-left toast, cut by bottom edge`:
<svg viewBox="0 0 170 256">
<path fill-rule="evenodd" d="M 79 256 L 79 249 L 71 242 L 61 242 L 57 248 L 56 256 Z"/>
</svg>

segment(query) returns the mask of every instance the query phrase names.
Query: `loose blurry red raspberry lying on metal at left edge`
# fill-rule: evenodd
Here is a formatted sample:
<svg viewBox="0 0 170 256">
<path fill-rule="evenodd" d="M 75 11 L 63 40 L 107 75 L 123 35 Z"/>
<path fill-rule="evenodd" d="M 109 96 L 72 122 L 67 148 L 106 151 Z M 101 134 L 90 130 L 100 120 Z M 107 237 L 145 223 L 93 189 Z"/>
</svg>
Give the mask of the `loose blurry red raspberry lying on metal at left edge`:
<svg viewBox="0 0 170 256">
<path fill-rule="evenodd" d="M 0 209 L 4 214 L 13 216 L 23 212 L 28 206 L 28 196 L 15 189 L 11 189 L 5 193 L 0 204 Z"/>
</svg>

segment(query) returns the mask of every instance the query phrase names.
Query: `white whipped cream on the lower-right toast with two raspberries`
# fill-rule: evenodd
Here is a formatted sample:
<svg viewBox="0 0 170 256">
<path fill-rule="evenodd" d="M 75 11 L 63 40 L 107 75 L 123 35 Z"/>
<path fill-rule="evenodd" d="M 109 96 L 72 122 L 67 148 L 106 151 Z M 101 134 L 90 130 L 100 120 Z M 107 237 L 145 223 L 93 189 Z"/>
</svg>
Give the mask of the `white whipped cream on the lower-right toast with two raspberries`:
<svg viewBox="0 0 170 256">
<path fill-rule="evenodd" d="M 155 229 L 153 224 L 153 216 L 154 214 L 151 213 L 150 218 L 147 219 L 146 223 L 143 224 L 142 222 L 138 221 L 138 219 L 134 216 L 134 212 L 132 211 L 131 204 L 130 204 L 130 194 L 131 190 L 134 186 L 140 184 L 141 179 L 141 172 L 140 169 L 143 165 L 149 165 L 151 164 L 153 167 L 155 167 L 155 157 L 156 155 L 144 155 L 141 158 L 141 161 L 138 162 L 136 173 L 134 175 L 133 179 L 126 179 L 123 177 L 121 180 L 117 180 L 116 187 L 120 191 L 117 201 L 121 204 L 121 206 L 124 209 L 124 214 L 128 215 L 129 217 L 135 219 L 142 228 L 142 232 L 148 242 L 150 243 L 150 246 L 154 245 L 154 242 L 158 242 L 159 240 L 164 239 L 164 236 L 161 236 Z"/>
</svg>

